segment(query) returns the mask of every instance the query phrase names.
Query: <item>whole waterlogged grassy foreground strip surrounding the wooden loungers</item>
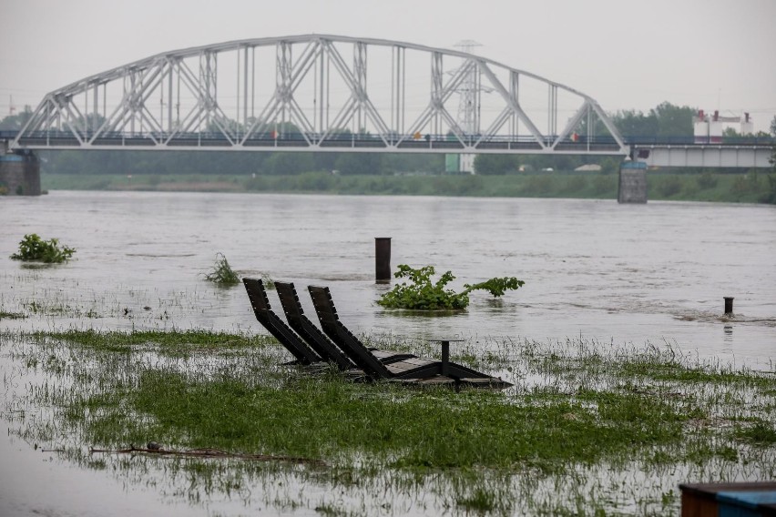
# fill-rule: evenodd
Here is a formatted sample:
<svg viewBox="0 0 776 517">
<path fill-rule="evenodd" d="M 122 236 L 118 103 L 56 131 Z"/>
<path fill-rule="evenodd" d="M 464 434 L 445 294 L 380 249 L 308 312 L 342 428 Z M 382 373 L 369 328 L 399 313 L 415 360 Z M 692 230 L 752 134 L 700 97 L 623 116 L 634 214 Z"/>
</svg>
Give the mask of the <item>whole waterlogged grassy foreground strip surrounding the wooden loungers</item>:
<svg viewBox="0 0 776 517">
<path fill-rule="evenodd" d="M 292 473 L 352 497 L 351 504 L 276 495 L 268 503 L 275 508 L 369 513 L 359 504 L 383 492 L 393 494 L 398 513 L 397 502 L 408 498 L 431 498 L 434 512 L 662 513 L 678 504 L 667 471 L 692 477 L 679 481 L 776 475 L 771 374 L 692 361 L 670 347 L 468 343 L 455 360 L 507 372 L 516 386 L 456 393 L 280 367 L 285 352 L 273 340 L 240 334 L 69 330 L 5 338 L 19 343 L 10 356 L 20 369 L 46 374 L 3 408 L 52 411 L 48 421 L 14 413 L 13 432 L 27 441 L 70 436 L 64 449 L 101 469 L 107 460 L 84 455 L 84 447 L 153 440 L 179 450 L 321 460 L 329 465 L 323 471 Z M 416 353 L 425 346 L 403 343 Z M 205 492 L 240 492 L 261 472 L 289 475 L 245 461 L 170 465 Z M 652 481 L 632 493 L 615 486 L 634 471 Z M 553 499 L 558 487 L 570 491 L 563 501 Z"/>
</svg>

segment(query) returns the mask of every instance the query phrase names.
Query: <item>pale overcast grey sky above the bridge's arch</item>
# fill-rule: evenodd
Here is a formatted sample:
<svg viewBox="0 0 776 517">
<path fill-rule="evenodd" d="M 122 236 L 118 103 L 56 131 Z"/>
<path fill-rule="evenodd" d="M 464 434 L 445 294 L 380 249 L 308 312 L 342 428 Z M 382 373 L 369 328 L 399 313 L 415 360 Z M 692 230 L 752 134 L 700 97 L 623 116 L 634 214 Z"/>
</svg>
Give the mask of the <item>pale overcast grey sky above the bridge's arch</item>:
<svg viewBox="0 0 776 517">
<path fill-rule="evenodd" d="M 776 115 L 776 0 L 3 0 L 0 117 L 49 91 L 168 50 L 300 34 L 477 54 L 593 96 Z"/>
</svg>

